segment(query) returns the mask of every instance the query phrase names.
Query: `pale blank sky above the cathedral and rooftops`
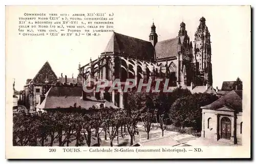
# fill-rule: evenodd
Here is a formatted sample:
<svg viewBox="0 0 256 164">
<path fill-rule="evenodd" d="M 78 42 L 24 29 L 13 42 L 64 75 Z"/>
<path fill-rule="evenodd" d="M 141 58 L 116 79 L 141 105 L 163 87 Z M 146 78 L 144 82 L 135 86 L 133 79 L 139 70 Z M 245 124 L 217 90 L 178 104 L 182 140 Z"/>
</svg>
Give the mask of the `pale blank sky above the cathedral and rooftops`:
<svg viewBox="0 0 256 164">
<path fill-rule="evenodd" d="M 15 12 L 14 12 L 15 11 Z M 24 37 L 18 35 L 18 17 L 26 13 L 114 13 L 117 33 L 149 40 L 154 21 L 158 41 L 178 35 L 180 23 L 186 24 L 190 40 L 204 16 L 211 35 L 213 86 L 221 88 L 223 81 L 240 77 L 250 81 L 250 8 L 246 6 L 40 6 L 10 7 L 6 19 L 6 80 L 22 90 L 27 79 L 32 79 L 46 61 L 60 77 L 74 77 L 78 64 L 96 59 L 108 44 L 112 33 L 80 37 Z"/>
</svg>

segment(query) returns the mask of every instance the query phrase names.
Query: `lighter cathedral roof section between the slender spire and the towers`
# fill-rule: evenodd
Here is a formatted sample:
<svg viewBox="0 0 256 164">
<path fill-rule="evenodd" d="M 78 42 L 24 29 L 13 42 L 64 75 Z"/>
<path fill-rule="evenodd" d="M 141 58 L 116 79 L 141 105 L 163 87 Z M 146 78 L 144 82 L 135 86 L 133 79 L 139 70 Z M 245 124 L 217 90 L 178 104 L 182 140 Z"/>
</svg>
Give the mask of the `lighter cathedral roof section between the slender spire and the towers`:
<svg viewBox="0 0 256 164">
<path fill-rule="evenodd" d="M 180 37 L 181 43 L 183 43 L 184 37 L 185 36 Z M 176 56 L 178 52 L 178 42 L 178 37 L 157 42 L 155 46 L 157 59 Z"/>
</svg>

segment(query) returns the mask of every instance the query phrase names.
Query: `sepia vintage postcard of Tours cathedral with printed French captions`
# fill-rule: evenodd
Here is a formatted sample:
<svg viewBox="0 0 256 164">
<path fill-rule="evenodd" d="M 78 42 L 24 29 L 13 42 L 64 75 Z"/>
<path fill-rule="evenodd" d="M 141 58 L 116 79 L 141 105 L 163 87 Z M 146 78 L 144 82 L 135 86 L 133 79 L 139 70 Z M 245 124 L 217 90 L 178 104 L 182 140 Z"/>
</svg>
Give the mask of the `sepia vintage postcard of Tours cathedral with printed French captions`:
<svg viewBox="0 0 256 164">
<path fill-rule="evenodd" d="M 250 158 L 250 6 L 6 6 L 6 158 Z"/>
</svg>

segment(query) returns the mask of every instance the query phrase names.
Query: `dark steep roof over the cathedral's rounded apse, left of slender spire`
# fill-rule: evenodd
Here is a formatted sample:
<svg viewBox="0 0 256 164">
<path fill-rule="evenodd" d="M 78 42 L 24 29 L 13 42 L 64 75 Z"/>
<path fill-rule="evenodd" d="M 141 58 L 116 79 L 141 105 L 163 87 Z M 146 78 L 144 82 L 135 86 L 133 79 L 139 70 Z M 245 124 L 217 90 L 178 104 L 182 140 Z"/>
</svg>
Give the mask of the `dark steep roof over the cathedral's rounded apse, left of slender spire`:
<svg viewBox="0 0 256 164">
<path fill-rule="evenodd" d="M 116 32 L 111 36 L 104 52 L 123 53 L 124 56 L 130 55 L 137 59 L 154 60 L 154 47 L 151 42 L 118 34 Z"/>
</svg>

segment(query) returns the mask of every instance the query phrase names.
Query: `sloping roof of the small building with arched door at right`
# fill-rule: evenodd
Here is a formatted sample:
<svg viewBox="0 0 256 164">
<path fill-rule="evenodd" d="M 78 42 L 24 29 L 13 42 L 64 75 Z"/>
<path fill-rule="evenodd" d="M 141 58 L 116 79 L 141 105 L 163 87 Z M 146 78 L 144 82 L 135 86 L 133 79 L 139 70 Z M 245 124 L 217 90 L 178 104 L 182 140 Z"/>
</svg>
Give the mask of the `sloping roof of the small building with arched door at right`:
<svg viewBox="0 0 256 164">
<path fill-rule="evenodd" d="M 237 93 L 238 92 L 238 93 Z M 240 96 L 239 96 L 240 95 Z M 230 91 L 215 102 L 202 106 L 202 109 L 220 109 L 223 106 L 229 107 L 236 111 L 242 111 L 242 93 L 241 91 Z"/>
</svg>

